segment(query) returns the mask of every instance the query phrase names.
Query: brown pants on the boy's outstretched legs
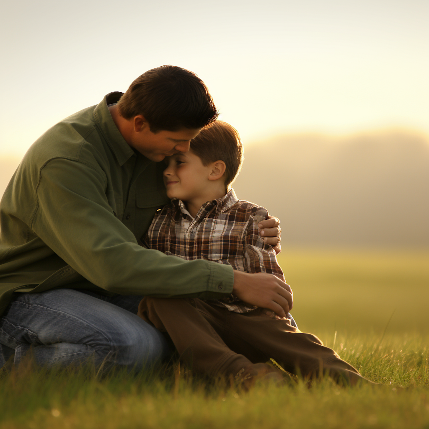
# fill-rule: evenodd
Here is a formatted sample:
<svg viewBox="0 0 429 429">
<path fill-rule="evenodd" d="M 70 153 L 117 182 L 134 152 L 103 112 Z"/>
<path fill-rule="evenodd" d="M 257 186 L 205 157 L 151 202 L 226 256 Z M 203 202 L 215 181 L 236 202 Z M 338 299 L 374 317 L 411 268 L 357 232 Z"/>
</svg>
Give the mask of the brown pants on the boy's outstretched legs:
<svg viewBox="0 0 429 429">
<path fill-rule="evenodd" d="M 208 375 L 236 375 L 241 368 L 273 358 L 288 372 L 308 378 L 323 371 L 352 385 L 364 380 L 315 335 L 260 309 L 239 314 L 200 299 L 145 297 L 138 315 L 167 332 L 181 359 Z"/>
</svg>

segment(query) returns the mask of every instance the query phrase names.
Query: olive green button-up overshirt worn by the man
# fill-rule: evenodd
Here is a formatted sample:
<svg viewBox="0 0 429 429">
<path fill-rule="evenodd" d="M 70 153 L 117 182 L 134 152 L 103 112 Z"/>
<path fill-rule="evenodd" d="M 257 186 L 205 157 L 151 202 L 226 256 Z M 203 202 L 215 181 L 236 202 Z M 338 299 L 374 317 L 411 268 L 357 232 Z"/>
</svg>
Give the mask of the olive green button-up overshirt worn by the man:
<svg viewBox="0 0 429 429">
<path fill-rule="evenodd" d="M 233 269 L 145 249 L 138 240 L 166 197 L 163 163 L 136 153 L 107 104 L 69 116 L 27 151 L 0 203 L 0 315 L 14 292 L 219 298 Z"/>
</svg>

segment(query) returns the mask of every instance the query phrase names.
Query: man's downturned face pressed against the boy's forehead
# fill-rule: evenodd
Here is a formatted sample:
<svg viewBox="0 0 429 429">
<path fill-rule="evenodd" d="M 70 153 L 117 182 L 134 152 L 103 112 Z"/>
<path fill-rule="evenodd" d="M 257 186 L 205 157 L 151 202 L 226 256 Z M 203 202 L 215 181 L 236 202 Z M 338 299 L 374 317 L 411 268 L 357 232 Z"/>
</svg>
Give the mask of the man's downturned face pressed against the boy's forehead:
<svg viewBox="0 0 429 429">
<path fill-rule="evenodd" d="M 189 151 L 190 141 L 200 131 L 201 128 L 182 128 L 178 131 L 152 133 L 149 127 L 144 127 L 133 134 L 129 144 L 146 158 L 159 162 L 165 157 Z"/>
</svg>

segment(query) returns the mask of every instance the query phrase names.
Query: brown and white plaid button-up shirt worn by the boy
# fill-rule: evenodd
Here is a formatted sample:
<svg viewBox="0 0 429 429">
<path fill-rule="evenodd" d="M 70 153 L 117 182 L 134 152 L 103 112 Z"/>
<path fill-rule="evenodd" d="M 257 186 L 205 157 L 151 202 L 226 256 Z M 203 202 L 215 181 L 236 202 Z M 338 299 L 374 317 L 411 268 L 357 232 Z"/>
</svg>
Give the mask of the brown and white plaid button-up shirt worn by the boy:
<svg viewBox="0 0 429 429">
<path fill-rule="evenodd" d="M 274 274 L 284 281 L 274 250 L 259 235 L 258 223 L 267 216 L 265 208 L 237 199 L 234 190 L 203 204 L 195 218 L 175 198 L 155 214 L 144 245 L 186 260 L 205 259 L 239 271 Z M 233 295 L 210 302 L 236 313 L 257 308 Z"/>
</svg>

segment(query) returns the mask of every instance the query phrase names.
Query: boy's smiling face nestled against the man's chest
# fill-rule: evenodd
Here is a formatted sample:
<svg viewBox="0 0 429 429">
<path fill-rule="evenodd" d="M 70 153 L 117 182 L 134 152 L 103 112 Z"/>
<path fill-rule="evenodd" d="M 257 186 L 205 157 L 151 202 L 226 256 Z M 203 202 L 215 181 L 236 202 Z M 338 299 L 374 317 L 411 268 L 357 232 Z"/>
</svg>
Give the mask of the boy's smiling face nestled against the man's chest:
<svg viewBox="0 0 429 429">
<path fill-rule="evenodd" d="M 209 183 L 208 176 L 212 166 L 204 166 L 201 159 L 192 151 L 166 157 L 164 162 L 164 183 L 169 198 L 178 198 L 184 202 L 204 199 Z"/>
</svg>

